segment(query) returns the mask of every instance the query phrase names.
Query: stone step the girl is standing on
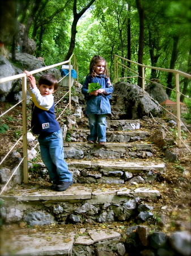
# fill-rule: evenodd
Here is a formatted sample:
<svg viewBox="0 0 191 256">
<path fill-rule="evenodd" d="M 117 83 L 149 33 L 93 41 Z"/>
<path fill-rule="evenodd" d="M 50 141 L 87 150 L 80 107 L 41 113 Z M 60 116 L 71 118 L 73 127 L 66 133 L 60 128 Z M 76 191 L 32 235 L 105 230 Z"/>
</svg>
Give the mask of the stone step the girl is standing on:
<svg viewBox="0 0 191 256">
<path fill-rule="evenodd" d="M 110 143 L 103 145 L 86 142 L 65 142 L 65 159 L 131 159 L 153 156 L 149 143 Z"/>
</svg>

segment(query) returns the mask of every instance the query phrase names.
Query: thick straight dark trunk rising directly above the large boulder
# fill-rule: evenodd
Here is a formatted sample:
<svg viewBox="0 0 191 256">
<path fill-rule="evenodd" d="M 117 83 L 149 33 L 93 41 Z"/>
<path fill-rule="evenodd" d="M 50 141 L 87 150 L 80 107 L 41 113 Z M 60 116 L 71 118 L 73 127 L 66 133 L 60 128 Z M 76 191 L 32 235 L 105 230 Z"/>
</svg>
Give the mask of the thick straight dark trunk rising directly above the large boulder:
<svg viewBox="0 0 191 256">
<path fill-rule="evenodd" d="M 138 63 L 143 64 L 143 47 L 144 47 L 144 10 L 141 5 L 141 0 L 135 0 L 137 5 L 137 10 L 139 13 L 139 49 L 138 49 Z M 138 66 L 138 85 L 142 87 L 142 67 Z"/>
</svg>

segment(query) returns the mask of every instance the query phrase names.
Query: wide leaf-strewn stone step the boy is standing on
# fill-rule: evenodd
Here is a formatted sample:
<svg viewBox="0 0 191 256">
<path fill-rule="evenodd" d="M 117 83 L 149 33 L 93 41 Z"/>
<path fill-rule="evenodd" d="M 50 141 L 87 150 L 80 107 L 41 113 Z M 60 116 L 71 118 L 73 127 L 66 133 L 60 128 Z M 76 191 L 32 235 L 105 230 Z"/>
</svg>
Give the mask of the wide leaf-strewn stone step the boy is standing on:
<svg viewBox="0 0 191 256">
<path fill-rule="evenodd" d="M 151 210 L 152 200 L 160 198 L 160 191 L 151 185 L 73 184 L 62 192 L 52 191 L 50 185 L 27 184 L 4 193 L 3 221 L 30 226 L 125 221 L 138 215 L 142 199 L 150 199 Z"/>
</svg>

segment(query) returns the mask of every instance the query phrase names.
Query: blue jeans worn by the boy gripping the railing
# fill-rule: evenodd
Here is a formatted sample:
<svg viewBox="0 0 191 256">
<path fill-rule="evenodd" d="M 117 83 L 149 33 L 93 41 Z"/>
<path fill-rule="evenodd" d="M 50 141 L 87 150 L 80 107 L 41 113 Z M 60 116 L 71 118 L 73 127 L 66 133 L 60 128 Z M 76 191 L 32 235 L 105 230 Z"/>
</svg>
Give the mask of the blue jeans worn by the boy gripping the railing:
<svg viewBox="0 0 191 256">
<path fill-rule="evenodd" d="M 48 169 L 50 179 L 53 182 L 72 181 L 67 163 L 63 159 L 62 131 L 55 131 L 46 137 L 39 135 L 41 158 Z"/>
</svg>

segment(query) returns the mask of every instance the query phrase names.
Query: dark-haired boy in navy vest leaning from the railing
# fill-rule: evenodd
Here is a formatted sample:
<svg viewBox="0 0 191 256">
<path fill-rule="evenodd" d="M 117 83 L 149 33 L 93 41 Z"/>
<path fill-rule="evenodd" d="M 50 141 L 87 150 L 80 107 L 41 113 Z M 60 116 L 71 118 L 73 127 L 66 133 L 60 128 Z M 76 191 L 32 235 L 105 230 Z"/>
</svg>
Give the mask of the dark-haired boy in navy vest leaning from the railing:
<svg viewBox="0 0 191 256">
<path fill-rule="evenodd" d="M 31 129 L 32 133 L 39 134 L 41 158 L 53 181 L 51 188 L 65 191 L 73 184 L 73 179 L 63 159 L 62 131 L 54 114 L 53 93 L 58 87 L 58 81 L 52 74 L 43 75 L 40 77 L 38 89 L 35 77 L 28 71 L 24 73 L 30 82 L 29 93 L 33 101 Z"/>
</svg>

